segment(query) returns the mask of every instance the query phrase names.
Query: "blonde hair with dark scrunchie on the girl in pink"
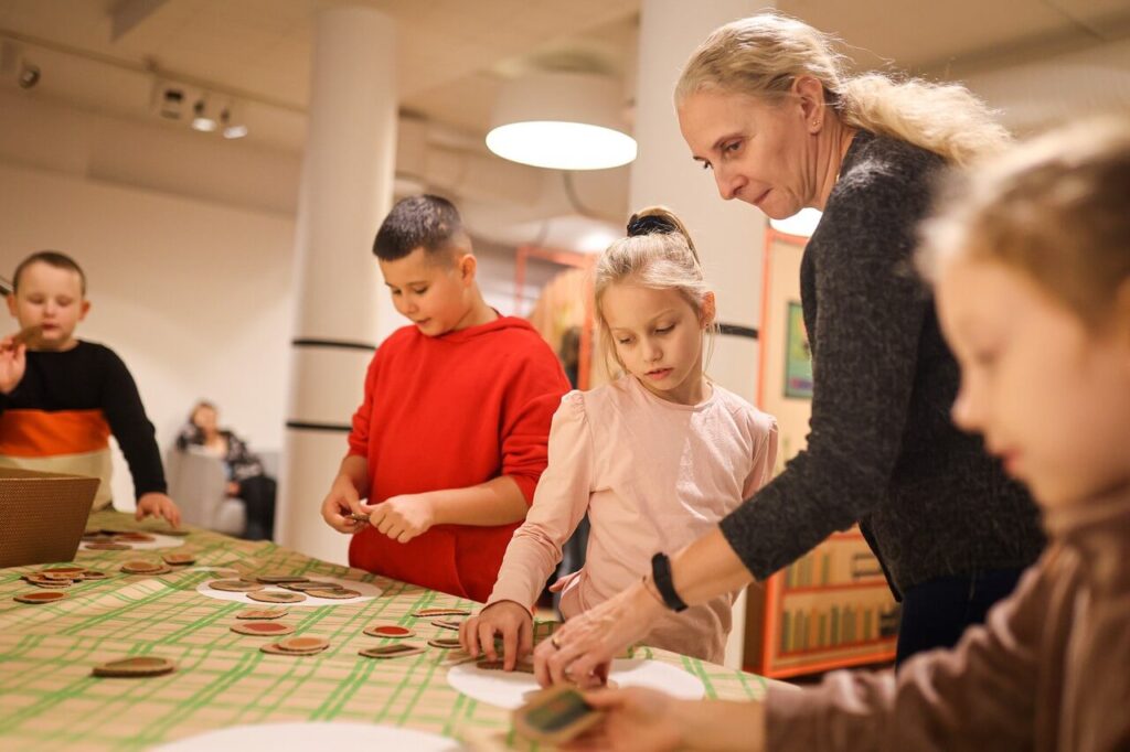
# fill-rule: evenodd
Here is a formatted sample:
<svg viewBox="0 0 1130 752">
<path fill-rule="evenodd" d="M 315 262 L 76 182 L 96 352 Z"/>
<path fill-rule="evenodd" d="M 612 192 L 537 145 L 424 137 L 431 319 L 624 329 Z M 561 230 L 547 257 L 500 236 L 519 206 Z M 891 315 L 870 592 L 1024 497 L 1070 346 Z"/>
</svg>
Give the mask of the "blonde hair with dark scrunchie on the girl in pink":
<svg viewBox="0 0 1130 752">
<path fill-rule="evenodd" d="M 624 364 L 612 341 L 605 317 L 603 299 L 612 285 L 631 282 L 657 290 L 677 290 L 690 304 L 698 321 L 703 318 L 706 287 L 698 252 L 690 234 L 675 212 L 664 207 L 647 207 L 628 219 L 627 237 L 616 241 L 597 261 L 593 292 L 597 324 L 600 327 L 600 351 L 610 374 L 624 370 Z M 713 334 L 718 324 L 706 326 L 706 357 L 713 351 Z"/>
</svg>

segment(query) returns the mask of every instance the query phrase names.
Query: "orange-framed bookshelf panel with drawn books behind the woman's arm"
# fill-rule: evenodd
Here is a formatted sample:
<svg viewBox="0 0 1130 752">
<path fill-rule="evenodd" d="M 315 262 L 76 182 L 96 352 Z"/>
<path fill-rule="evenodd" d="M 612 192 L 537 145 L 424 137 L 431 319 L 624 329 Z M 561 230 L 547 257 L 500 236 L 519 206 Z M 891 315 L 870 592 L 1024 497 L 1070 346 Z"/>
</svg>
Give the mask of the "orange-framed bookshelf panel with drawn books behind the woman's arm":
<svg viewBox="0 0 1130 752">
<path fill-rule="evenodd" d="M 758 406 L 777 419 L 776 472 L 803 449 L 811 413 L 811 365 L 803 360 L 799 306 L 805 242 L 766 228 Z M 893 659 L 898 607 L 878 560 L 853 527 L 751 587 L 746 627 L 746 667 L 781 679 Z"/>
</svg>

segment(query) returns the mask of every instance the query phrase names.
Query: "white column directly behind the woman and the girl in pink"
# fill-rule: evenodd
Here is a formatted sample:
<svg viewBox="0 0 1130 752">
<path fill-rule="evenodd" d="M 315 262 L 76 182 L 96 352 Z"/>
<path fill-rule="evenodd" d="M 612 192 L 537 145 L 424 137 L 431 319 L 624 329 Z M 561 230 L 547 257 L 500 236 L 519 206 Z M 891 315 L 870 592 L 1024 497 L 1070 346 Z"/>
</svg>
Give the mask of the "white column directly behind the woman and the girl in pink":
<svg viewBox="0 0 1130 752">
<path fill-rule="evenodd" d="M 749 333 L 760 316 L 765 217 L 749 204 L 722 201 L 714 178 L 692 161 L 672 95 L 687 58 L 712 30 L 765 7 L 751 0 L 643 1 L 635 121 L 640 157 L 632 165 L 629 199 L 632 210 L 664 204 L 687 224 L 718 296 L 719 321 L 746 332 L 716 338 L 707 373 L 750 402 L 757 393 L 757 340 Z M 728 666 L 741 665 L 745 617 L 742 594 L 733 609 Z"/>
</svg>

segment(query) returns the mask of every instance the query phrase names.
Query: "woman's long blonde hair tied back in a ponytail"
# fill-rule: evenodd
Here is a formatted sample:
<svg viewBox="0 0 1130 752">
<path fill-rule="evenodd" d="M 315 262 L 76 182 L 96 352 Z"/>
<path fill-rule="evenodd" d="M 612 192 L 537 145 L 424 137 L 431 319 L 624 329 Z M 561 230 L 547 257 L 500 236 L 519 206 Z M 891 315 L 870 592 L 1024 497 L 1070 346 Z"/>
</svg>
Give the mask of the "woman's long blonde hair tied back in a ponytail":
<svg viewBox="0 0 1130 752">
<path fill-rule="evenodd" d="M 1010 135 L 992 112 L 958 84 L 849 76 L 837 40 L 780 12 L 742 18 L 715 29 L 687 61 L 675 89 L 681 106 L 693 94 L 721 90 L 776 102 L 793 81 L 811 76 L 825 104 L 846 125 L 913 143 L 965 166 L 999 151 Z"/>
</svg>

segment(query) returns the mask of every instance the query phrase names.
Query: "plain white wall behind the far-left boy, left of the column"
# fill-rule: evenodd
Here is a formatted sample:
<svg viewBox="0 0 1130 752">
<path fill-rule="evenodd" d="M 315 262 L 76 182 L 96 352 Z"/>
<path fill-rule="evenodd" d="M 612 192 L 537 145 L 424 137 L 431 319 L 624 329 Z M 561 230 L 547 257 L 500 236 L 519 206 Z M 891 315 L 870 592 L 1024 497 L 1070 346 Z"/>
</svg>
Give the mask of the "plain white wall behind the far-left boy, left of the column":
<svg viewBox="0 0 1130 752">
<path fill-rule="evenodd" d="M 282 445 L 293 235 L 285 215 L 0 164 L 0 269 L 76 257 L 93 303 L 79 335 L 125 360 L 163 447 L 199 397 L 252 447 Z M 132 506 L 120 455 L 114 497 Z"/>
</svg>

